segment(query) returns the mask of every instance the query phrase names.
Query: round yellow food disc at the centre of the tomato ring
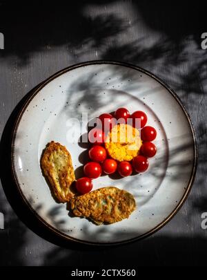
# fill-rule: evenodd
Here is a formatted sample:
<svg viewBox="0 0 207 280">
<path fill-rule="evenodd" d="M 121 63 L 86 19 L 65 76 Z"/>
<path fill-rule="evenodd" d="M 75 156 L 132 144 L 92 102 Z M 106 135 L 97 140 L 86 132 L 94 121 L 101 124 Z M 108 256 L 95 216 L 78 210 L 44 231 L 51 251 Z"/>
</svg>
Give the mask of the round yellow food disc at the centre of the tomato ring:
<svg viewBox="0 0 207 280">
<path fill-rule="evenodd" d="M 129 124 L 117 124 L 106 136 L 105 147 L 111 158 L 118 161 L 130 161 L 141 148 L 138 129 Z"/>
</svg>

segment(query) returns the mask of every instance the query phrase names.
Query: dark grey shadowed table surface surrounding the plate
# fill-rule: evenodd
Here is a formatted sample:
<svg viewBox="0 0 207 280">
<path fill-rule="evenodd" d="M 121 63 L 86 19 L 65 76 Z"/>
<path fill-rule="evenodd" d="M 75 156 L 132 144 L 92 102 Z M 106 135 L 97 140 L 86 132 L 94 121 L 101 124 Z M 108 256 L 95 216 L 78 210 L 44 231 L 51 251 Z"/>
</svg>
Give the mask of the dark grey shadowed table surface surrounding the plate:
<svg viewBox="0 0 207 280">
<path fill-rule="evenodd" d="M 205 6 L 199 1 L 75 1 L 68 6 L 61 1 L 17 2 L 0 1 L 0 32 L 5 37 L 5 49 L 0 50 L 0 165 L 8 198 L 0 188 L 0 212 L 5 217 L 0 265 L 205 265 L 207 230 L 201 229 L 201 214 L 207 212 L 207 49 L 201 49 L 201 34 L 207 32 Z M 148 239 L 112 248 L 72 244 L 63 248 L 54 236 L 37 229 L 32 216 L 21 209 L 17 194 L 10 192 L 6 144 L 18 107 L 10 115 L 50 75 L 94 59 L 141 66 L 176 91 L 195 127 L 199 165 L 184 206 Z"/>
</svg>

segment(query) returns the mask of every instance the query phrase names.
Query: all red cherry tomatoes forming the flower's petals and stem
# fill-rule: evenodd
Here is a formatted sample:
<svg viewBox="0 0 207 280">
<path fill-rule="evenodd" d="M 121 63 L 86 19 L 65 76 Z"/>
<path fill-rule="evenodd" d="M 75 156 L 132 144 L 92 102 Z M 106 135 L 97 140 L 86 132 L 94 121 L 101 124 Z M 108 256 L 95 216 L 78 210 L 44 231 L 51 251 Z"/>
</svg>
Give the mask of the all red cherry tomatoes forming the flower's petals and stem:
<svg viewBox="0 0 207 280">
<path fill-rule="evenodd" d="M 143 143 L 139 155 L 133 158 L 131 162 L 117 162 L 113 158 L 109 158 L 105 147 L 103 147 L 106 139 L 106 131 L 107 129 L 112 129 L 117 122 L 120 123 L 120 120 L 122 123 L 127 123 L 128 118 L 132 119 L 133 127 L 137 126 L 136 120 L 140 120 L 139 127 L 136 128 L 141 130 L 140 134 Z M 109 113 L 99 115 L 99 120 L 101 121 L 101 128 L 95 127 L 88 133 L 88 140 L 92 144 L 88 154 L 92 161 L 86 163 L 83 167 L 86 177 L 77 180 L 77 190 L 81 194 L 90 192 L 92 189 L 92 179 L 98 178 L 102 173 L 113 174 L 115 171 L 118 171 L 120 176 L 126 177 L 130 176 L 133 170 L 137 173 L 146 171 L 149 165 L 148 158 L 152 158 L 157 152 L 155 144 L 152 143 L 157 136 L 157 131 L 154 127 L 146 126 L 148 118 L 143 111 L 135 111 L 130 115 L 126 108 L 119 108 L 115 111 L 114 115 Z"/>
</svg>

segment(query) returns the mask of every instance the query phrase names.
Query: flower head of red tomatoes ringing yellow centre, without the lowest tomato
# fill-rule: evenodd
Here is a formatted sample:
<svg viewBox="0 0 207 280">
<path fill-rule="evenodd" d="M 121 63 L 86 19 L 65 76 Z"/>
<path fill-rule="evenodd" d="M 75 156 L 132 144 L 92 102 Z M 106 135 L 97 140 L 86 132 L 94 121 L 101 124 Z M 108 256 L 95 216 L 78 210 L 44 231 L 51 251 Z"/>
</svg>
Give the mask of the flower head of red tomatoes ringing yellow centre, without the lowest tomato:
<svg viewBox="0 0 207 280">
<path fill-rule="evenodd" d="M 118 171 L 119 175 L 126 177 L 133 170 L 138 173 L 146 171 L 147 158 L 157 153 L 155 144 L 151 142 L 155 140 L 157 131 L 154 127 L 146 126 L 147 121 L 148 116 L 143 111 L 135 111 L 130 115 L 126 108 L 99 115 L 97 127 L 88 132 L 88 140 L 93 144 L 88 151 L 90 160 L 99 162 L 104 174 Z M 100 168 L 95 169 L 93 163 L 84 167 L 84 170 L 90 178 L 101 175 Z"/>
</svg>

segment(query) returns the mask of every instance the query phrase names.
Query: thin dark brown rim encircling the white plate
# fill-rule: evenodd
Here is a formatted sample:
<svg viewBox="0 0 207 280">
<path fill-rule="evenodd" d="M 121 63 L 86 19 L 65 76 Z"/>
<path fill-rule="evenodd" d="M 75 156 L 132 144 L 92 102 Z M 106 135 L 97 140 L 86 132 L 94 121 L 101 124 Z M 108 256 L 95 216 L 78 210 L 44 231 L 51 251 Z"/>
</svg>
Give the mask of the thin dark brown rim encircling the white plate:
<svg viewBox="0 0 207 280">
<path fill-rule="evenodd" d="M 39 93 L 39 91 L 41 91 L 41 89 L 44 86 L 46 86 L 46 84 L 48 84 L 49 82 L 54 80 L 56 77 L 59 77 L 60 75 L 66 73 L 68 71 L 72 71 L 75 68 L 79 68 L 79 67 L 83 67 L 83 66 L 89 66 L 89 65 L 94 65 L 94 64 L 113 64 L 113 65 L 118 65 L 118 66 L 125 66 L 125 67 L 128 67 L 128 68 L 132 68 L 132 69 L 134 69 L 136 71 L 140 71 L 140 72 L 148 75 L 149 77 L 152 77 L 152 79 L 156 80 L 157 82 L 159 82 L 159 84 L 164 86 L 164 88 L 166 88 L 166 90 L 175 98 L 175 100 L 177 101 L 177 103 L 181 107 L 182 111 L 184 112 L 184 115 L 186 116 L 186 119 L 188 120 L 188 124 L 190 126 L 190 130 L 191 130 L 192 138 L 193 138 L 193 149 L 194 149 L 193 168 L 192 168 L 192 171 L 191 171 L 191 174 L 190 174 L 190 179 L 188 181 L 188 186 L 186 187 L 186 190 L 185 190 L 184 195 L 182 196 L 181 200 L 179 200 L 179 203 L 177 203 L 177 206 L 175 207 L 175 209 L 164 219 L 164 221 L 159 223 L 152 230 L 150 230 L 149 232 L 146 232 L 145 234 L 141 234 L 141 236 L 137 236 L 137 237 L 134 237 L 132 239 L 128 239 L 126 241 L 107 242 L 107 243 L 82 241 L 80 239 L 75 239 L 75 238 L 73 238 L 71 236 L 68 236 L 67 234 L 64 234 L 63 232 L 55 229 L 55 227 L 52 227 L 52 225 L 49 225 L 43 218 L 41 218 L 41 216 L 39 216 L 39 214 L 37 214 L 37 212 L 34 211 L 32 206 L 30 205 L 30 203 L 26 199 L 26 196 L 24 196 L 23 192 L 21 191 L 21 187 L 19 185 L 17 174 L 16 174 L 16 171 L 15 171 L 15 168 L 14 168 L 14 146 L 15 146 L 15 138 L 16 138 L 16 135 L 17 135 L 17 129 L 19 127 L 19 123 L 21 122 L 21 117 L 22 117 L 24 111 L 26 110 L 28 104 L 33 99 L 33 97 L 35 95 L 37 95 L 37 93 Z M 196 170 L 197 170 L 197 140 L 196 140 L 196 136 L 195 136 L 195 129 L 193 127 L 193 123 L 190 120 L 190 116 L 188 115 L 188 112 L 186 111 L 184 105 L 181 103 L 181 100 L 179 99 L 179 97 L 177 96 L 175 91 L 173 91 L 172 88 L 170 88 L 170 86 L 168 86 L 168 84 L 166 84 L 166 82 L 162 81 L 159 77 L 157 77 L 156 75 L 150 73 L 150 71 L 146 71 L 144 68 L 141 68 L 139 66 L 135 66 L 135 65 L 132 65 L 132 64 L 128 64 L 126 62 L 117 62 L 117 61 L 110 61 L 110 60 L 107 60 L 107 61 L 106 60 L 92 60 L 92 61 L 88 61 L 88 62 L 81 62 L 79 64 L 75 64 L 75 65 L 63 68 L 61 71 L 58 71 L 57 73 L 55 73 L 52 76 L 48 77 L 48 79 L 46 79 L 44 82 L 42 82 L 39 85 L 38 88 L 35 88 L 34 91 L 32 91 L 30 93 L 30 95 L 28 96 L 28 98 L 24 102 L 23 106 L 19 110 L 16 122 L 14 124 L 13 131 L 12 131 L 11 171 L 12 171 L 12 178 L 14 179 L 14 183 L 17 186 L 19 194 L 21 195 L 21 198 L 23 199 L 23 202 L 26 203 L 26 205 L 28 206 L 28 208 L 30 209 L 32 214 L 34 214 L 34 216 L 36 216 L 38 218 L 38 220 L 41 223 L 43 223 L 43 225 L 45 227 L 48 228 L 48 230 L 50 230 L 53 233 L 57 234 L 57 236 L 61 236 L 61 238 L 63 238 L 64 240 L 67 240 L 67 241 L 75 241 L 77 243 L 83 243 L 83 244 L 86 244 L 86 245 L 121 245 L 121 244 L 130 243 L 132 241 L 138 241 L 138 240 L 146 238 L 147 236 L 150 236 L 151 234 L 154 234 L 155 232 L 160 230 L 162 227 L 164 227 L 164 225 L 166 225 L 166 223 L 168 223 L 171 220 L 171 218 L 173 218 L 175 216 L 175 214 L 177 214 L 177 212 L 179 211 L 181 206 L 184 205 L 184 202 L 186 201 L 186 198 L 188 197 L 188 194 L 190 193 L 190 190 L 191 190 L 191 188 L 193 186 L 193 182 L 195 180 Z"/>
</svg>

